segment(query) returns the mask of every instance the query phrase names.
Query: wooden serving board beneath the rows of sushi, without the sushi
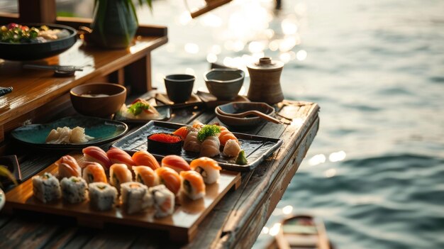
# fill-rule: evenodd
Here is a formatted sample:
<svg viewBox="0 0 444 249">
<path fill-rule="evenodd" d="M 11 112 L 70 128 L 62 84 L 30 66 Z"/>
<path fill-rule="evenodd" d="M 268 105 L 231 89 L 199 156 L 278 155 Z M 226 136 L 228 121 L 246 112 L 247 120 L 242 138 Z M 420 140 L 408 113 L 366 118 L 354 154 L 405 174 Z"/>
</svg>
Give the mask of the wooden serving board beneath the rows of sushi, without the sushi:
<svg viewBox="0 0 444 249">
<path fill-rule="evenodd" d="M 73 155 L 80 163 L 82 155 Z M 50 172 L 57 175 L 57 166 L 52 164 L 38 173 L 43 175 Z M 141 226 L 155 230 L 167 231 L 170 239 L 179 243 L 188 243 L 196 234 L 199 223 L 204 220 L 211 209 L 222 199 L 230 189 L 240 186 L 240 173 L 221 171 L 221 178 L 215 184 L 206 184 L 206 195 L 203 199 L 193 201 L 179 194 L 176 197 L 174 213 L 165 218 L 154 218 L 154 210 L 138 214 L 126 214 L 120 206 L 111 211 L 96 211 L 91 209 L 89 201 L 79 204 L 69 204 L 62 199 L 44 204 L 33 196 L 32 179 L 18 185 L 6 193 L 4 210 L 11 213 L 14 209 L 37 211 L 47 214 L 71 216 L 82 226 L 101 228 L 104 223 L 116 223 L 128 226 Z"/>
</svg>

